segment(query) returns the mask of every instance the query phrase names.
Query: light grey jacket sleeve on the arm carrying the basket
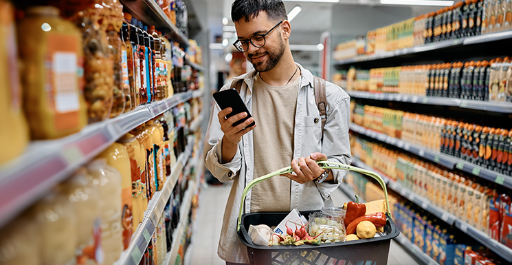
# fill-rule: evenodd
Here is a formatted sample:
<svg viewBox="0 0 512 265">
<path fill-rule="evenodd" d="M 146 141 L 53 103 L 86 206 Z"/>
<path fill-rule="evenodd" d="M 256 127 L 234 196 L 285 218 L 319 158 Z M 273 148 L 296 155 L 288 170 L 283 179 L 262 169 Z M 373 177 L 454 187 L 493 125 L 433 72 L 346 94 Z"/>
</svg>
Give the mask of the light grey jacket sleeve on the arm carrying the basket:
<svg viewBox="0 0 512 265">
<path fill-rule="evenodd" d="M 329 85 L 335 86 L 332 83 Z M 350 121 L 350 96 L 340 87 L 335 86 L 341 92 L 341 96 L 329 109 L 327 120 L 324 127 L 324 140 L 322 142 L 322 153 L 327 156 L 327 160 L 350 165 L 350 140 L 348 138 L 348 123 Z M 329 94 L 327 95 L 329 100 Z M 324 200 L 328 200 L 331 193 L 337 189 L 346 175 L 346 170 L 333 170 L 333 183 L 317 184 L 318 191 Z"/>
</svg>

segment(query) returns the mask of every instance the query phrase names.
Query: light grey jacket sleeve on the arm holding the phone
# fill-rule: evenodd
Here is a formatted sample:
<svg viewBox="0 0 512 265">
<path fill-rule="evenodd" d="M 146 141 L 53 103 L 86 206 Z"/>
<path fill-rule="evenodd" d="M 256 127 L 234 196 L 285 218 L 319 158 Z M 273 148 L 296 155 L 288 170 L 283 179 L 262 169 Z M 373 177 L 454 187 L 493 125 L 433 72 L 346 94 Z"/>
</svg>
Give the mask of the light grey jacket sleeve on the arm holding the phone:
<svg viewBox="0 0 512 265">
<path fill-rule="evenodd" d="M 203 154 L 205 167 L 220 182 L 226 182 L 234 180 L 238 176 L 238 171 L 242 165 L 242 154 L 240 153 L 240 147 L 238 147 L 232 161 L 222 164 L 222 138 L 224 134 L 221 131 L 219 117 L 217 116 L 219 112 L 219 106 L 214 103 L 204 139 Z"/>
</svg>

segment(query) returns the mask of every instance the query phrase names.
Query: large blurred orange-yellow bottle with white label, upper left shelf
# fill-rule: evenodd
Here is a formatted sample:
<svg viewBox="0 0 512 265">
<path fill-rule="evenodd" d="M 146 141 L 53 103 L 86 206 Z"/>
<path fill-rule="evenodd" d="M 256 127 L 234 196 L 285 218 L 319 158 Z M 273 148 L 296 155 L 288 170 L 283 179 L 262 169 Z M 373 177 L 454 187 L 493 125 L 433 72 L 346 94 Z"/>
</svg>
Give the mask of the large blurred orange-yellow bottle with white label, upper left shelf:
<svg viewBox="0 0 512 265">
<path fill-rule="evenodd" d="M 29 8 L 18 25 L 24 109 L 35 139 L 66 136 L 87 123 L 80 32 L 58 14 L 54 7 Z"/>
</svg>

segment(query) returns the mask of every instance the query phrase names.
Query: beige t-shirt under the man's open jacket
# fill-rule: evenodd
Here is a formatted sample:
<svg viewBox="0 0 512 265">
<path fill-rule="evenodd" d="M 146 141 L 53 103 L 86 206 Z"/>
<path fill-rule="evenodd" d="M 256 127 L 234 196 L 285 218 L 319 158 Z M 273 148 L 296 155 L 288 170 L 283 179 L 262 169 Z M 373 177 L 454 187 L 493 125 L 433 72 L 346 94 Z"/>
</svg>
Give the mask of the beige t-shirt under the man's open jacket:
<svg viewBox="0 0 512 265">
<path fill-rule="evenodd" d="M 300 78 L 284 87 L 254 77 L 252 116 L 254 138 L 254 178 L 288 167 L 293 158 L 293 127 Z M 291 180 L 275 176 L 252 188 L 251 211 L 290 211 Z"/>
</svg>

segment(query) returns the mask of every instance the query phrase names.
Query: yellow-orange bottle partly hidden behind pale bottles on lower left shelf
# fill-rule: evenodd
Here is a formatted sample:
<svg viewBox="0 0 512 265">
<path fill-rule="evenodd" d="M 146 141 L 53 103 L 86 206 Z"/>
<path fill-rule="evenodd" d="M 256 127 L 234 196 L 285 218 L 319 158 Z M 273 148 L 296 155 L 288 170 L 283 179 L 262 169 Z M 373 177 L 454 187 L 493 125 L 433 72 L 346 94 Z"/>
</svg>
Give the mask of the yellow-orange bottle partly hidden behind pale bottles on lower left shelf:
<svg viewBox="0 0 512 265">
<path fill-rule="evenodd" d="M 132 199 L 131 199 L 131 167 L 130 158 L 126 147 L 117 142 L 114 142 L 110 147 L 102 151 L 98 158 L 105 158 L 107 165 L 115 168 L 121 174 L 121 187 L 122 187 L 122 238 L 124 249 L 128 248 L 130 244 L 131 235 L 133 233 L 132 226 Z"/>
</svg>

